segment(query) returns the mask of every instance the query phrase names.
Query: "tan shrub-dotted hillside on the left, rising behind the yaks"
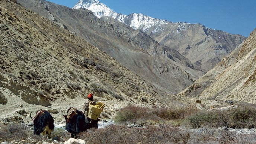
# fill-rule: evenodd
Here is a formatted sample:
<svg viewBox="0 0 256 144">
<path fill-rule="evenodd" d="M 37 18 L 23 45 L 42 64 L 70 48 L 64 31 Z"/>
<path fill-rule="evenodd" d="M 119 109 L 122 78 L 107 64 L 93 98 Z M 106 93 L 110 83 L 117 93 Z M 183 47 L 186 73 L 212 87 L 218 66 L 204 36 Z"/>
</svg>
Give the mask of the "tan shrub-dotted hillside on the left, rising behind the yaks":
<svg viewBox="0 0 256 144">
<path fill-rule="evenodd" d="M 122 105 L 180 105 L 67 29 L 9 0 L 0 0 L 0 9 L 1 117 L 21 108 L 80 107 L 88 93 L 112 112 Z"/>
</svg>

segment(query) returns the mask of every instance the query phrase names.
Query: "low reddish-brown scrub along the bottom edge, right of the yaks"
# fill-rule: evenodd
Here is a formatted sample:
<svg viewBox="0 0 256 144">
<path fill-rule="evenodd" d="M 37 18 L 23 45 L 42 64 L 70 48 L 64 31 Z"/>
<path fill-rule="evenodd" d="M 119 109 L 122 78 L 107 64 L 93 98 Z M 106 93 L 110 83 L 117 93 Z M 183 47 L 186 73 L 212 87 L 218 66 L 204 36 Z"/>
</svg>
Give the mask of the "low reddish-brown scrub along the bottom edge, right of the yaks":
<svg viewBox="0 0 256 144">
<path fill-rule="evenodd" d="M 89 129 L 80 133 L 86 143 L 143 143 L 143 144 L 227 144 L 255 143 L 256 134 L 236 134 L 230 131 L 188 131 L 170 125 L 127 128 L 124 125 L 108 125 L 103 129 Z"/>
</svg>

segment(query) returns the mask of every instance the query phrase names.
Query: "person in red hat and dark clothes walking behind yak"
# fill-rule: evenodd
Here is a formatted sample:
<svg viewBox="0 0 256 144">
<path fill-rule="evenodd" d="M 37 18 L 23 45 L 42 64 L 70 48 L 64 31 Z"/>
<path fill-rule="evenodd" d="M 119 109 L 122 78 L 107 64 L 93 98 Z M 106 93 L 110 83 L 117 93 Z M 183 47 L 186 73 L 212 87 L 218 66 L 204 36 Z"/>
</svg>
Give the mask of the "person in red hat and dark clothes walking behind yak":
<svg viewBox="0 0 256 144">
<path fill-rule="evenodd" d="M 83 109 L 84 109 L 84 115 L 85 115 L 85 122 L 86 122 L 86 127 L 87 128 L 92 128 L 92 127 L 95 127 L 95 128 L 98 128 L 98 121 L 100 119 L 97 118 L 97 120 L 94 120 L 94 119 L 90 119 L 88 118 L 88 112 L 89 112 L 89 104 L 90 105 L 96 105 L 96 100 L 93 99 L 93 94 L 90 93 L 88 96 L 87 96 L 88 100 L 87 102 L 84 102 L 84 105 L 83 105 Z"/>
</svg>

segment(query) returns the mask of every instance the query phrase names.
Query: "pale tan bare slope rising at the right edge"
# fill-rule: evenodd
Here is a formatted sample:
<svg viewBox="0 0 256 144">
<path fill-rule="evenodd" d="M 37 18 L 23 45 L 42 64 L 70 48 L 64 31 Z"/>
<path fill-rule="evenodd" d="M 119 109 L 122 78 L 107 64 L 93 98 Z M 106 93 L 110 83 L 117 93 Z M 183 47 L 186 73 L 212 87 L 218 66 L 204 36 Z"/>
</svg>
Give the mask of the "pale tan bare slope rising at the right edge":
<svg viewBox="0 0 256 144">
<path fill-rule="evenodd" d="M 228 57 L 179 95 L 256 103 L 256 29 Z"/>
</svg>

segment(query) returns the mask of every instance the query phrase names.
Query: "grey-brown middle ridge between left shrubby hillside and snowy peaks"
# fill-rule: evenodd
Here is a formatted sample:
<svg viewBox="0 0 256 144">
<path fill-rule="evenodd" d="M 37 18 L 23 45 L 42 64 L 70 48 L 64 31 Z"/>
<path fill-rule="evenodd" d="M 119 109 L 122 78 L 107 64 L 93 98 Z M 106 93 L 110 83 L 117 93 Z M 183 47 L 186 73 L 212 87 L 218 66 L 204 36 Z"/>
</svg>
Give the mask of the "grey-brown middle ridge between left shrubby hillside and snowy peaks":
<svg viewBox="0 0 256 144">
<path fill-rule="evenodd" d="M 98 19 L 89 10 L 70 9 L 44 0 L 18 2 L 63 24 L 165 92 L 178 93 L 203 74 L 179 52 L 114 19 Z"/>
</svg>

